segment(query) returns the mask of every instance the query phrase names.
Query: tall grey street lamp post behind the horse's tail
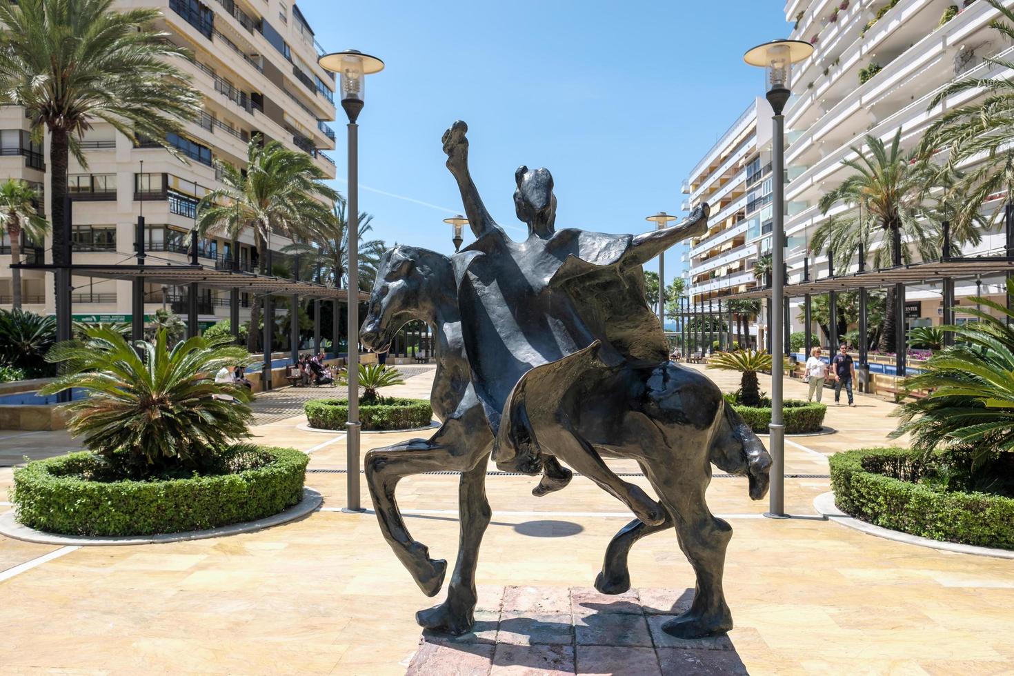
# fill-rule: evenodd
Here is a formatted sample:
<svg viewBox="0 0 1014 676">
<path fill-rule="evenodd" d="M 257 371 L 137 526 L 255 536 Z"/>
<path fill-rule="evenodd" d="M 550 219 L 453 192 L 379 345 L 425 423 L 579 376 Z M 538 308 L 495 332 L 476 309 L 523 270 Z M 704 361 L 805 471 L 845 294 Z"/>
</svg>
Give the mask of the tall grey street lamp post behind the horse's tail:
<svg viewBox="0 0 1014 676">
<path fill-rule="evenodd" d="M 758 45 L 743 55 L 743 61 L 750 66 L 765 69 L 768 102 L 775 115 L 772 118 L 772 176 L 775 183 L 773 207 L 775 223 L 771 234 L 771 425 L 769 431 L 773 464 L 771 467 L 771 493 L 769 510 L 765 516 L 785 518 L 785 425 L 782 416 L 782 371 L 784 364 L 782 345 L 782 306 L 785 304 L 783 267 L 785 261 L 785 118 L 782 111 L 792 91 L 792 64 L 813 54 L 813 46 L 799 40 L 775 40 Z"/>
</svg>

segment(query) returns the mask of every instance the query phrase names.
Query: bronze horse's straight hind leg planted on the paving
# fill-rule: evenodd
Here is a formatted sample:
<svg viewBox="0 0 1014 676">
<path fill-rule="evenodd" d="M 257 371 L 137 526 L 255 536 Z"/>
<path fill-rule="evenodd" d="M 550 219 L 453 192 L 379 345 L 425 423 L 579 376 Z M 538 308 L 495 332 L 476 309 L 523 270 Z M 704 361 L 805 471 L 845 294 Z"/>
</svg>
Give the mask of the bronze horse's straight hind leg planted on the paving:
<svg viewBox="0 0 1014 676">
<path fill-rule="evenodd" d="M 732 537 L 732 528 L 712 516 L 705 503 L 705 491 L 711 477 L 707 459 L 703 463 L 686 463 L 677 469 L 681 476 L 674 476 L 671 466 L 653 464 L 649 467 L 649 478 L 672 513 L 679 548 L 694 568 L 697 589 L 691 609 L 663 624 L 662 629 L 680 639 L 700 639 L 732 628 L 732 614 L 722 590 L 725 549 Z"/>
</svg>

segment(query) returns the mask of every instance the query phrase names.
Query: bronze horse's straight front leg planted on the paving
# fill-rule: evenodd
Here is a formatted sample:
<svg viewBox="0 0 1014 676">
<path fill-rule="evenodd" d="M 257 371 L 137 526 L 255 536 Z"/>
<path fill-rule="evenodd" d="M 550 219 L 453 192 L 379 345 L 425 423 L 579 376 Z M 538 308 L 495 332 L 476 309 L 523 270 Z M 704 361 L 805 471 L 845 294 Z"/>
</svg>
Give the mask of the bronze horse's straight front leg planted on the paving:
<svg viewBox="0 0 1014 676">
<path fill-rule="evenodd" d="M 479 565 L 479 546 L 490 524 L 492 512 L 486 499 L 486 454 L 472 469 L 461 472 L 458 484 L 458 514 L 460 515 L 460 541 L 454 574 L 447 586 L 447 599 L 438 606 L 416 613 L 421 626 L 453 634 L 472 628 L 476 595 L 476 567 Z"/>
</svg>

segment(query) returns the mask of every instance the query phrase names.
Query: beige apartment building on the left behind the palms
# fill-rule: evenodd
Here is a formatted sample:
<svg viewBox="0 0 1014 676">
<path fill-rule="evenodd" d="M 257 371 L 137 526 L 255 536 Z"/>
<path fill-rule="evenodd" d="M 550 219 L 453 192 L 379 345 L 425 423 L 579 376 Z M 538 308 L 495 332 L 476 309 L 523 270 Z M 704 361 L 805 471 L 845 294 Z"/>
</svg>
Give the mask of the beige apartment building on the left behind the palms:
<svg viewBox="0 0 1014 676">
<path fill-rule="evenodd" d="M 75 264 L 133 262 L 137 217 L 142 214 L 148 260 L 186 262 L 198 201 L 221 185 L 215 162 L 242 166 L 254 135 L 309 153 L 327 177 L 335 177 L 335 162 L 323 152 L 335 148 L 335 133 L 325 124 L 335 119 L 335 79 L 317 66 L 323 51 L 298 6 L 288 0 L 120 0 L 116 6 L 162 12 L 158 27 L 194 56 L 179 67 L 204 95 L 204 110 L 182 134 L 167 135 L 186 162 L 151 141 L 135 146 L 105 124 L 87 132 L 82 142 L 87 168 L 72 157 L 68 181 Z M 0 108 L 0 177 L 21 178 L 45 195 L 50 185 L 48 141 L 45 147 L 33 143 L 27 122 L 21 108 Z M 43 198 L 40 208 L 45 202 Z M 286 265 L 287 256 L 280 251 L 290 243 L 282 235 L 271 238 L 275 264 Z M 237 244 L 240 267 L 256 271 L 252 236 L 242 236 Z M 9 255 L 10 242 L 4 239 L 0 245 L 0 255 Z M 49 240 L 23 241 L 25 262 L 49 261 L 50 245 Z M 220 238 L 201 240 L 199 261 L 228 268 L 231 246 Z M 24 271 L 21 279 L 24 309 L 52 314 L 52 278 Z M 75 319 L 130 319 L 130 282 L 74 277 L 72 284 Z M 10 306 L 10 270 L 2 265 L 0 307 Z M 227 292 L 199 287 L 199 293 L 203 326 L 228 318 Z M 243 294 L 243 321 L 249 318 L 249 302 Z M 161 307 L 186 313 L 186 287 L 147 284 L 145 314 Z"/>
</svg>

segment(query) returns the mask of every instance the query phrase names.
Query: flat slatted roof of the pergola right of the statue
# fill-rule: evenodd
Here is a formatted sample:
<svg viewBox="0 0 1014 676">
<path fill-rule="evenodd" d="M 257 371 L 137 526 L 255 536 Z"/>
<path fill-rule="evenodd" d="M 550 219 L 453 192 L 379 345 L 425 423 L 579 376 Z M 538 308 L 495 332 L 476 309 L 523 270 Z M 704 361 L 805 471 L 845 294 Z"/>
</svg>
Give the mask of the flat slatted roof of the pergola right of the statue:
<svg viewBox="0 0 1014 676">
<path fill-rule="evenodd" d="M 785 285 L 785 296 L 797 298 L 806 294 L 823 294 L 828 291 L 855 291 L 875 289 L 891 284 L 924 284 L 943 279 L 960 279 L 986 275 L 1014 275 L 1014 258 L 1007 256 L 982 256 L 977 258 L 946 258 L 926 260 L 908 266 L 867 270 L 862 273 L 836 275 L 809 282 Z M 750 289 L 741 293 L 720 296 L 712 300 L 738 300 L 740 298 L 768 298 L 771 287 Z"/>
</svg>

